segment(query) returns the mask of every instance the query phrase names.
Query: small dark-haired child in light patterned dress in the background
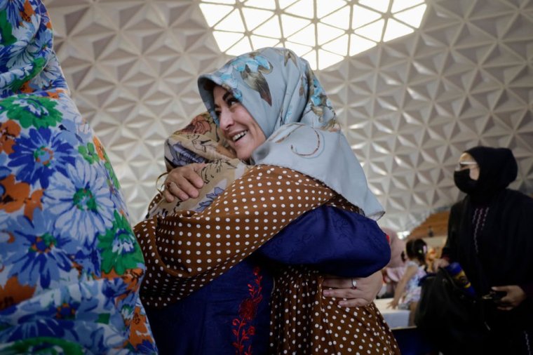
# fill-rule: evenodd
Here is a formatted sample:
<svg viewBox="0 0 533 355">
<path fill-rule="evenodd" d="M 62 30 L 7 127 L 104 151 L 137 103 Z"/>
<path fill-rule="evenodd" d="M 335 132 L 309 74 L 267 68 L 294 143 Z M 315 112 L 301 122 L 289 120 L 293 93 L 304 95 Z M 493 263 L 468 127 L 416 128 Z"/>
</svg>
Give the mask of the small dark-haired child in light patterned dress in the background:
<svg viewBox="0 0 533 355">
<path fill-rule="evenodd" d="M 405 244 L 407 265 L 402 279 L 398 282 L 391 308 L 409 309 L 409 325 L 414 326 L 414 312 L 420 300 L 420 280 L 426 276 L 426 253 L 428 246 L 422 239 L 411 239 Z"/>
</svg>

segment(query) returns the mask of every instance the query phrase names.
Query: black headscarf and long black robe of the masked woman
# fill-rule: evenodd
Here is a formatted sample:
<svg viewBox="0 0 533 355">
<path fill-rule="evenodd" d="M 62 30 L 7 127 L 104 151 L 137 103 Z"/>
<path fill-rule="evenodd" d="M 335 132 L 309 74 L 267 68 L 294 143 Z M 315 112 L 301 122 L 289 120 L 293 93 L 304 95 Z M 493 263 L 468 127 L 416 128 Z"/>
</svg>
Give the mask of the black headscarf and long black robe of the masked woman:
<svg viewBox="0 0 533 355">
<path fill-rule="evenodd" d="M 492 286 L 527 290 L 533 284 L 533 199 L 506 189 L 517 174 L 509 149 L 476 147 L 467 152 L 478 163 L 480 176 L 475 189 L 452 206 L 443 256 L 461 264 L 478 295 Z M 486 312 L 494 342 L 503 337 L 520 342 L 524 330 L 533 334 L 532 295 L 511 311 L 488 303 Z M 533 351 L 533 344 L 529 346 Z"/>
</svg>

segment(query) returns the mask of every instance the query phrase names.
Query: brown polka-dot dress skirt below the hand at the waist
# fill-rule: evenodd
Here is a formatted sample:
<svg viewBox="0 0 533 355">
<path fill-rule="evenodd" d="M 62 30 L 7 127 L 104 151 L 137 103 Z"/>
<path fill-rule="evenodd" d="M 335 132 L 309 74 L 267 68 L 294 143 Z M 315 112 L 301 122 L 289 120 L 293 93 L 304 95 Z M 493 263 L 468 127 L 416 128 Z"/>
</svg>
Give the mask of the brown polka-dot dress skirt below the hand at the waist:
<svg viewBox="0 0 533 355">
<path fill-rule="evenodd" d="M 339 307 L 322 296 L 323 277 L 285 267 L 272 295 L 271 354 L 400 354 L 383 316 L 367 307 Z"/>
</svg>

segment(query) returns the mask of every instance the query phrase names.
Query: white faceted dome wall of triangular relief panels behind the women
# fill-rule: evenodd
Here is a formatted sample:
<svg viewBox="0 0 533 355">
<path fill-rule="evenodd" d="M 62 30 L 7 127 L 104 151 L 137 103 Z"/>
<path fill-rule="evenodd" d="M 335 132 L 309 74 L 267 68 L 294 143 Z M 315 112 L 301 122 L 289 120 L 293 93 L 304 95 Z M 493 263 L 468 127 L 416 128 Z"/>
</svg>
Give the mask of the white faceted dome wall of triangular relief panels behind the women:
<svg viewBox="0 0 533 355">
<path fill-rule="evenodd" d="M 459 199 L 454 163 L 475 145 L 513 149 L 511 187 L 533 192 L 533 0 L 426 5 L 412 34 L 317 72 L 386 209 L 379 224 L 397 231 Z M 163 141 L 204 110 L 196 77 L 229 57 L 200 1 L 46 6 L 74 100 L 104 142 L 137 222 L 164 169 Z"/>
</svg>

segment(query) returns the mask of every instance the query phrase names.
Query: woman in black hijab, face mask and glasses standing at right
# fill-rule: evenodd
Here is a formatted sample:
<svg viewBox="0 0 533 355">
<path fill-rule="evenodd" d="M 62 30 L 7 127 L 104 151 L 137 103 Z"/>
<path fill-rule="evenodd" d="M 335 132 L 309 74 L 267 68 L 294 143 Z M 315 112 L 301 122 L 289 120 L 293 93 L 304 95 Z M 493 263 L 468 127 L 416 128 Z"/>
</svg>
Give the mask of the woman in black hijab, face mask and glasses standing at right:
<svg viewBox="0 0 533 355">
<path fill-rule="evenodd" d="M 510 149 L 490 147 L 466 150 L 454 172 L 466 196 L 452 206 L 435 267 L 459 262 L 475 293 L 494 298 L 489 342 L 471 343 L 480 354 L 533 354 L 533 199 L 507 188 L 517 173 Z"/>
</svg>

